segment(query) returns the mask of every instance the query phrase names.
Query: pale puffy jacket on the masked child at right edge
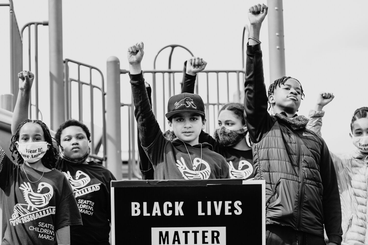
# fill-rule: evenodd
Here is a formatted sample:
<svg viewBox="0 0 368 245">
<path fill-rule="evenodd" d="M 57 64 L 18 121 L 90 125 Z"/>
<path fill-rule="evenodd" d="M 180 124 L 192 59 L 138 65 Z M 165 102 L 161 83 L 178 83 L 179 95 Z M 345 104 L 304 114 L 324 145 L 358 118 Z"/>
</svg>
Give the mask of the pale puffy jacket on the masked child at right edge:
<svg viewBox="0 0 368 245">
<path fill-rule="evenodd" d="M 324 111 L 309 111 L 307 129 L 321 135 Z M 356 151 L 336 155 L 330 152 L 339 184 L 342 210 L 342 245 L 368 245 L 368 155 Z"/>
</svg>

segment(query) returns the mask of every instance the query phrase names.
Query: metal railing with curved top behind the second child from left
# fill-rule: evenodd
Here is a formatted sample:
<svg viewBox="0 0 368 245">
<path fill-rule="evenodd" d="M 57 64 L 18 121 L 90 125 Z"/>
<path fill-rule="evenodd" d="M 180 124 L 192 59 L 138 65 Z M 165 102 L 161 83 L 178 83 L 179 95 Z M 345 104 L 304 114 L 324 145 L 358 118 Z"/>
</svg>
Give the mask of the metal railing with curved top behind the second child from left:
<svg viewBox="0 0 368 245">
<path fill-rule="evenodd" d="M 77 65 L 77 71 L 78 71 L 78 77 L 77 78 L 71 78 L 69 76 L 69 63 L 73 63 Z M 89 69 L 89 82 L 84 82 L 81 80 L 81 66 L 84 66 L 86 68 Z M 101 76 L 101 87 L 92 84 L 92 70 L 97 71 L 100 76 Z M 71 119 L 71 100 L 72 100 L 72 91 L 71 91 L 71 84 L 72 83 L 77 83 L 78 84 L 78 120 L 80 122 L 83 122 L 83 86 L 88 86 L 89 87 L 89 103 L 90 103 L 90 122 L 91 122 L 91 126 L 90 126 L 90 130 L 91 130 L 91 154 L 90 157 L 93 159 L 97 159 L 99 161 L 102 161 L 105 165 L 105 160 L 106 160 L 106 120 L 105 120 L 105 114 L 106 114 L 106 109 L 105 109 L 105 81 L 103 78 L 103 74 L 101 72 L 100 69 L 98 69 L 95 66 L 92 65 L 88 65 L 88 64 L 84 64 L 82 62 L 78 62 L 78 61 L 74 61 L 74 60 L 70 60 L 70 59 L 65 59 L 64 60 L 64 94 L 65 94 L 65 118 Z M 101 97 L 100 100 L 95 100 L 95 96 L 93 94 L 93 89 L 97 89 L 100 91 L 101 93 Z M 102 105 L 102 111 L 101 111 L 101 116 L 102 116 L 102 135 L 99 138 L 97 144 L 95 145 L 95 119 L 94 119 L 94 105 L 96 103 L 101 103 Z M 98 152 L 99 149 L 101 147 L 101 145 L 103 145 L 103 156 L 100 157 L 98 156 Z"/>
</svg>

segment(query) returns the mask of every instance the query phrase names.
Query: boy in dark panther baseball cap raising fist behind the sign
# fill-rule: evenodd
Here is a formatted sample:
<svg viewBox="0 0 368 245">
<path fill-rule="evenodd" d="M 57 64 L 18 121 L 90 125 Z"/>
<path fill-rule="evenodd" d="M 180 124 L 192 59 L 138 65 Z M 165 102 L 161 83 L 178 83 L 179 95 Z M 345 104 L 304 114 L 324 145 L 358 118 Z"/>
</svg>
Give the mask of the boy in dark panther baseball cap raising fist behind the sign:
<svg viewBox="0 0 368 245">
<path fill-rule="evenodd" d="M 152 162 L 154 179 L 229 179 L 229 167 L 212 145 L 198 143 L 205 128 L 205 107 L 198 94 L 182 93 L 167 103 L 166 118 L 178 137 L 167 140 L 153 115 L 142 74 L 143 43 L 128 48 L 134 115 L 141 145 Z"/>
</svg>

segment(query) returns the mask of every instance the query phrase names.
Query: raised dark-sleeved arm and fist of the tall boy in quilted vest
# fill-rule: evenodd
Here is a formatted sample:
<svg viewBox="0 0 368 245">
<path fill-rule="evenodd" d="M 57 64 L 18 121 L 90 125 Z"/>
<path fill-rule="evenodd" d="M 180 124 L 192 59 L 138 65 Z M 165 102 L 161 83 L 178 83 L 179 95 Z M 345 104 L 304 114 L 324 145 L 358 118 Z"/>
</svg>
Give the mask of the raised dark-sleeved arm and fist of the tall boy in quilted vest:
<svg viewBox="0 0 368 245">
<path fill-rule="evenodd" d="M 266 17 L 268 7 L 257 4 L 248 9 L 250 34 L 247 45 L 247 62 L 244 83 L 244 111 L 250 138 L 259 142 L 268 133 L 274 123 L 267 112 L 267 94 L 263 78 L 262 51 L 259 42 L 259 31 Z"/>
</svg>

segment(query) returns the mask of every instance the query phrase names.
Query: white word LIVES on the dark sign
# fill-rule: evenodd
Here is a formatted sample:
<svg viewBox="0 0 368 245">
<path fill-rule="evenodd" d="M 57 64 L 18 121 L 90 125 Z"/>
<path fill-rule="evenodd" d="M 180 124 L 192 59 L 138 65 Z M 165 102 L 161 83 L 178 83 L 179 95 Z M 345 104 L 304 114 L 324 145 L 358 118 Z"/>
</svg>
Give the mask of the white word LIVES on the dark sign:
<svg viewBox="0 0 368 245">
<path fill-rule="evenodd" d="M 213 206 L 212 206 L 213 203 Z M 225 201 L 225 204 L 222 205 L 222 201 L 213 201 L 213 202 L 207 202 L 207 212 L 205 212 L 205 210 L 202 212 L 202 202 L 198 202 L 198 215 L 211 215 L 211 210 L 212 207 L 215 210 L 215 214 L 216 215 L 220 215 L 221 214 L 221 208 L 223 207 L 224 209 L 224 213 L 225 215 L 232 215 L 233 213 L 231 212 L 231 206 L 234 206 L 234 214 L 235 215 L 241 215 L 241 213 L 243 212 L 243 210 L 241 210 L 241 201 L 235 201 L 234 205 L 232 205 L 231 201 Z M 204 205 L 206 206 L 206 205 Z"/>
</svg>

